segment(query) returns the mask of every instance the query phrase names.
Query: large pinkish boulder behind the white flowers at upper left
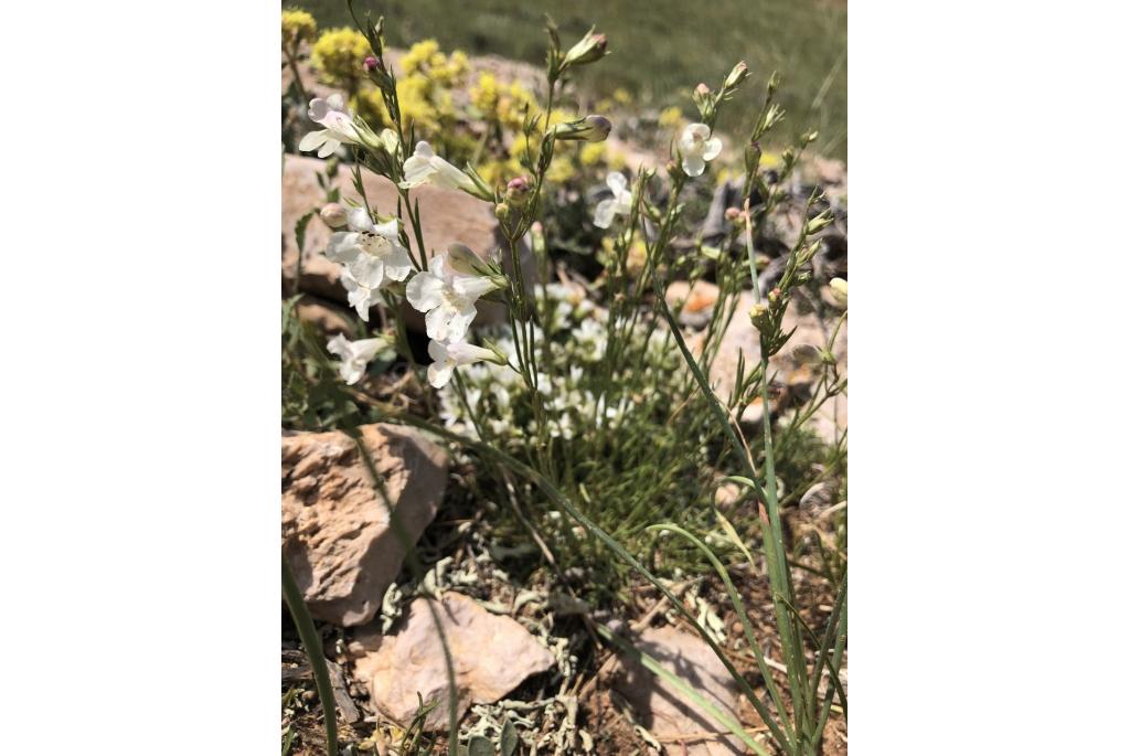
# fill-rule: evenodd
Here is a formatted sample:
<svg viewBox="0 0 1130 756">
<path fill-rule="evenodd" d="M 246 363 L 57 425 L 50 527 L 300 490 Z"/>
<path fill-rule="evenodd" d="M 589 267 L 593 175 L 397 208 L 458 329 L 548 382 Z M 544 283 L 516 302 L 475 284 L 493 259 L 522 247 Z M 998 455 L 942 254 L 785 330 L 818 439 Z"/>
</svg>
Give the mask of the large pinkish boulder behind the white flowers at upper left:
<svg viewBox="0 0 1130 756">
<path fill-rule="evenodd" d="M 311 210 L 318 210 L 325 202 L 325 191 L 318 183 L 318 175 L 324 173 L 325 162 L 316 157 L 287 155 L 282 168 L 282 292 L 289 294 L 297 272 L 298 245 L 295 241 L 295 223 Z M 399 195 L 391 181 L 370 171 L 362 171 L 365 194 L 370 207 L 382 215 L 395 215 Z M 333 181 L 341 189 L 342 203 L 359 197 L 353 186 L 353 172 L 342 165 Z M 483 200 L 464 192 L 424 185 L 411 191 L 412 201 L 419 200 L 420 220 L 424 225 L 424 244 L 428 259 L 436 252 L 459 242 L 475 250 L 486 259 L 495 249 L 505 244 L 498 233 L 498 221 L 493 208 Z M 321 218 L 311 218 L 306 226 L 304 253 L 302 255 L 302 279 L 298 288 L 307 294 L 347 304 L 346 290 L 339 283 L 340 266 L 325 259 L 322 252 L 333 233 Z M 415 236 L 409 231 L 409 235 Z M 415 253 L 415 243 L 412 252 Z M 533 271 L 531 253 L 525 245 L 521 250 L 522 267 L 529 277 Z M 508 254 L 503 255 L 508 263 Z M 507 271 L 510 266 L 506 264 Z M 512 272 L 512 271 L 511 271 Z M 424 319 L 405 305 L 403 314 L 409 325 L 423 330 Z M 477 324 L 501 323 L 505 319 L 502 305 L 479 301 Z M 375 318 L 370 319 L 376 322 Z"/>
</svg>

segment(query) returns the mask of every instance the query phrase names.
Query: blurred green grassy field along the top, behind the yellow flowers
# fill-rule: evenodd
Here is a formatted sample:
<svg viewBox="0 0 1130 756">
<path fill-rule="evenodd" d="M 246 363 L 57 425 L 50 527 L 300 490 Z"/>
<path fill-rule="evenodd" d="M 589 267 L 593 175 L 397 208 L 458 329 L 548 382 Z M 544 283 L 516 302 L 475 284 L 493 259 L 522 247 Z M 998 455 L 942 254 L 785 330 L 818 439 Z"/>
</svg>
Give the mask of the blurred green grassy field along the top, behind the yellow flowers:
<svg viewBox="0 0 1130 756">
<path fill-rule="evenodd" d="M 608 36 L 611 54 L 584 67 L 579 84 L 596 93 L 627 89 L 638 102 L 680 105 L 693 113 L 689 94 L 698 81 L 712 88 L 734 63 L 753 72 L 728 107 L 720 128 L 741 138 L 760 106 L 763 86 L 775 69 L 783 77 L 780 99 L 788 119 L 780 129 L 794 137 L 817 129 L 815 151 L 847 156 L 846 0 L 355 0 L 358 15 L 385 16 L 389 44 L 407 46 L 433 37 L 444 51 L 495 53 L 545 62 L 545 14 L 568 47 L 591 25 Z M 345 0 L 298 0 L 320 28 L 351 25 Z M 811 148 L 810 148 L 811 149 Z"/>
</svg>

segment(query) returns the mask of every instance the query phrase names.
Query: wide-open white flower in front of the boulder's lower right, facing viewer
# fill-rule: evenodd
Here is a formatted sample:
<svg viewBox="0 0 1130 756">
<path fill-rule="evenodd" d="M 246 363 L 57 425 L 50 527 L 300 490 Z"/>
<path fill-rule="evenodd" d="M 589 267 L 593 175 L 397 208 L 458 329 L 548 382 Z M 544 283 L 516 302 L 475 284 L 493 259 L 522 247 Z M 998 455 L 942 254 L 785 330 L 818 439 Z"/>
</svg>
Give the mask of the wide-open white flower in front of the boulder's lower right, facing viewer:
<svg viewBox="0 0 1130 756">
<path fill-rule="evenodd" d="M 462 262 L 452 264 L 449 261 L 449 255 L 463 261 L 467 255 L 473 254 L 462 244 L 452 244 L 446 252 L 432 259 L 428 270 L 416 273 L 408 281 L 405 296 L 409 304 L 425 313 L 424 323 L 429 338 L 461 341 L 475 320 L 476 301 L 499 288 L 496 281 L 470 271 Z"/>
</svg>

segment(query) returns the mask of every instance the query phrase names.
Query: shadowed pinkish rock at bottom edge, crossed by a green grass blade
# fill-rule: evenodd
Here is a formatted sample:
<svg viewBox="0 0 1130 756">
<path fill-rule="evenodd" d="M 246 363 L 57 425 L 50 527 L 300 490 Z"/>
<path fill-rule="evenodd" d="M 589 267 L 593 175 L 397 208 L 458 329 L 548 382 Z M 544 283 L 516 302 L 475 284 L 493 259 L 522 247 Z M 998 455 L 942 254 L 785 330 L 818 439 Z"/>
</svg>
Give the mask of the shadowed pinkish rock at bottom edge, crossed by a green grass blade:
<svg viewBox="0 0 1130 756">
<path fill-rule="evenodd" d="M 738 686 L 725 666 L 697 635 L 673 627 L 645 629 L 635 646 L 690 686 L 734 721 Z M 687 756 L 737 756 L 746 753 L 741 740 L 690 701 L 671 683 L 632 660 L 623 662 L 614 684 L 652 735 L 669 744 L 668 753 Z"/>
</svg>

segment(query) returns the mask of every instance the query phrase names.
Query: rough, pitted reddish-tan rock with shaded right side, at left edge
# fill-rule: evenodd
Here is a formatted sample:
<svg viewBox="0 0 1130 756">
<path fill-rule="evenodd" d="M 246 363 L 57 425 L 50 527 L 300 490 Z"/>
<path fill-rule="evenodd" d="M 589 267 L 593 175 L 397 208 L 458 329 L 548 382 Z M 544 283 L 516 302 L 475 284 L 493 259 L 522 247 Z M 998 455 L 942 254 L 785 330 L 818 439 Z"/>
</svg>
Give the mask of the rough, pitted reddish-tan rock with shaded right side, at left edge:
<svg viewBox="0 0 1130 756">
<path fill-rule="evenodd" d="M 417 431 L 394 425 L 364 426 L 362 438 L 416 542 L 443 497 L 446 453 Z M 315 618 L 360 625 L 381 608 L 406 549 L 345 433 L 284 434 L 282 550 Z"/>
</svg>

